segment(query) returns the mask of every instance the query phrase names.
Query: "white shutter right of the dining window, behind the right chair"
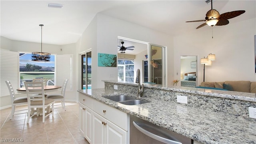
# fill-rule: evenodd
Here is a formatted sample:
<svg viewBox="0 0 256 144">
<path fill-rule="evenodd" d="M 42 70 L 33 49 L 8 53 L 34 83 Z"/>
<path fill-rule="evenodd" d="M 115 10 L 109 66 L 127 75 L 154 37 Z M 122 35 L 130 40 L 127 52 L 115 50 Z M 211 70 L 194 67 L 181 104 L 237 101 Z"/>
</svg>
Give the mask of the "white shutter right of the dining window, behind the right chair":
<svg viewBox="0 0 256 144">
<path fill-rule="evenodd" d="M 73 89 L 73 55 L 56 55 L 56 85 L 62 86 L 64 79 L 68 78 L 66 90 Z"/>
</svg>

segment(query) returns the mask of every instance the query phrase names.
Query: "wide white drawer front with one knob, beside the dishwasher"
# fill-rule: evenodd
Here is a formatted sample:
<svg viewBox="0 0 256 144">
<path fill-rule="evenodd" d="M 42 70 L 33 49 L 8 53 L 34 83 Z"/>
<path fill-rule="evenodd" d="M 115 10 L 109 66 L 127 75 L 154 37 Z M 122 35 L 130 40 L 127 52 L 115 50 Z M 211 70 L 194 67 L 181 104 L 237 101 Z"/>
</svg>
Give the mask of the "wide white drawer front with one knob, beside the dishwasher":
<svg viewBox="0 0 256 144">
<path fill-rule="evenodd" d="M 92 102 L 92 110 L 120 128 L 128 130 L 128 114 L 99 101 Z"/>
</svg>

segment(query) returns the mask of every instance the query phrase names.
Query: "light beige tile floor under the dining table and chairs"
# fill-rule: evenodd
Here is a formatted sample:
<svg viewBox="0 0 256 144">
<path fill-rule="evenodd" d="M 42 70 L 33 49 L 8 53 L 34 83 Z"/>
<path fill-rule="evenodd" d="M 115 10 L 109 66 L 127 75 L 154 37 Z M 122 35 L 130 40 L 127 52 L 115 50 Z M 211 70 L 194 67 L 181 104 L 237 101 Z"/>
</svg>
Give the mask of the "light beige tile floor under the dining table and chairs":
<svg viewBox="0 0 256 144">
<path fill-rule="evenodd" d="M 0 110 L 0 144 L 89 144 L 79 131 L 79 104 L 66 102 L 66 111 L 61 104 L 54 104 L 54 116 L 33 116 L 27 124 L 27 106 L 10 120 L 11 108 Z M 16 142 L 14 142 L 16 141 Z"/>
</svg>

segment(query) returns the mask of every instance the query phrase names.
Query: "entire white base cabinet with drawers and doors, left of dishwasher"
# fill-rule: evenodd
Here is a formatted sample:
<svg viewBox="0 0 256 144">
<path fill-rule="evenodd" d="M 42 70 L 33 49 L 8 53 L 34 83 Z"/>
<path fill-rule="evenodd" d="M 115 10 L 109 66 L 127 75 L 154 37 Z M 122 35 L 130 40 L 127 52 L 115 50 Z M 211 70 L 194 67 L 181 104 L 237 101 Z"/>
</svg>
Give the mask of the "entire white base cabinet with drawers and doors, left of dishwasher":
<svg viewBox="0 0 256 144">
<path fill-rule="evenodd" d="M 128 114 L 84 94 L 79 102 L 79 129 L 90 144 L 128 143 Z"/>
</svg>

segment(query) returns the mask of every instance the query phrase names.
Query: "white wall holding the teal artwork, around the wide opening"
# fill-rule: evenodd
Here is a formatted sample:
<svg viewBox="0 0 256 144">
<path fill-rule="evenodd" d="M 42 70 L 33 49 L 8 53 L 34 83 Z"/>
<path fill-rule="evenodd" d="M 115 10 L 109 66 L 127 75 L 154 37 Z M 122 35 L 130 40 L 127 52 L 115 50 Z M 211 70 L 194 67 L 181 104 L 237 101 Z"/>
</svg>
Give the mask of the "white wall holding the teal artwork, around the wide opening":
<svg viewBox="0 0 256 144">
<path fill-rule="evenodd" d="M 117 67 L 98 67 L 97 53 L 117 54 L 116 44 L 118 36 L 167 46 L 169 61 L 168 66 L 173 67 L 172 38 L 167 34 L 157 32 L 155 30 L 150 30 L 148 28 L 144 28 L 142 26 L 132 24 L 123 20 L 118 20 L 116 18 L 112 18 L 102 14 L 97 14 L 96 18 L 97 47 L 93 48 L 96 49 L 96 51 L 92 50 L 93 88 L 104 88 L 104 82 L 102 82 L 102 80 L 117 80 Z M 95 21 L 93 21 L 92 23 L 95 24 Z M 92 32 L 95 32 L 95 27 L 90 27 L 86 29 L 86 31 L 90 30 Z M 86 31 L 84 32 L 84 34 L 88 35 L 86 34 Z M 94 35 L 91 38 L 94 38 Z M 81 38 L 80 40 L 80 42 L 85 41 L 85 37 Z M 95 39 L 93 39 L 92 41 L 95 42 Z M 82 47 L 80 47 L 80 49 L 81 48 Z M 96 54 L 94 52 L 96 52 Z M 172 71 L 169 72 L 169 74 L 173 75 Z M 168 81 L 172 81 L 172 78 L 169 78 Z"/>
</svg>

